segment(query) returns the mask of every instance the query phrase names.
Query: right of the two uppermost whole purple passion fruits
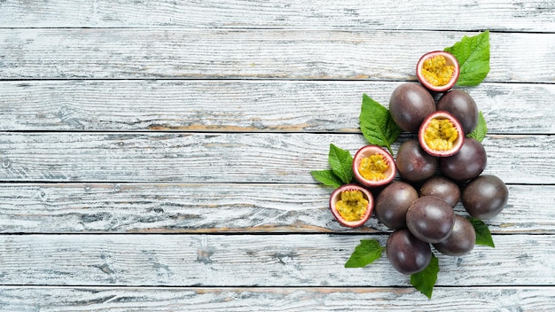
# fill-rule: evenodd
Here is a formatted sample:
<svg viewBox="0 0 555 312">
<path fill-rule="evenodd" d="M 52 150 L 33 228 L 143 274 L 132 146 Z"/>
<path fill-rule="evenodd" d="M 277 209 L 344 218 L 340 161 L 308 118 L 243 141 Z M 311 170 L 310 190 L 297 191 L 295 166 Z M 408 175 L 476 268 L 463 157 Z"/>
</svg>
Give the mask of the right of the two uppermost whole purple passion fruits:
<svg viewBox="0 0 555 312">
<path fill-rule="evenodd" d="M 450 90 L 437 101 L 437 109 L 446 111 L 460 121 L 465 135 L 473 132 L 478 126 L 478 105 L 474 99 L 463 90 Z"/>
</svg>

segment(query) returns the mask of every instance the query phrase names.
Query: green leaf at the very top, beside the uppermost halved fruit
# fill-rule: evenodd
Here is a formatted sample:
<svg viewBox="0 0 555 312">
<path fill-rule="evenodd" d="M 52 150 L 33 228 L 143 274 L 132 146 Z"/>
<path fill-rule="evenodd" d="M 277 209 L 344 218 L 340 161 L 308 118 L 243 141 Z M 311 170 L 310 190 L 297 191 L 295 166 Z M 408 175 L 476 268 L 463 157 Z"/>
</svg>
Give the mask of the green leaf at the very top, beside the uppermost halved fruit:
<svg viewBox="0 0 555 312">
<path fill-rule="evenodd" d="M 457 58 L 460 66 L 457 85 L 475 86 L 489 73 L 489 31 L 472 37 L 464 36 L 453 46 L 445 48 Z"/>
</svg>

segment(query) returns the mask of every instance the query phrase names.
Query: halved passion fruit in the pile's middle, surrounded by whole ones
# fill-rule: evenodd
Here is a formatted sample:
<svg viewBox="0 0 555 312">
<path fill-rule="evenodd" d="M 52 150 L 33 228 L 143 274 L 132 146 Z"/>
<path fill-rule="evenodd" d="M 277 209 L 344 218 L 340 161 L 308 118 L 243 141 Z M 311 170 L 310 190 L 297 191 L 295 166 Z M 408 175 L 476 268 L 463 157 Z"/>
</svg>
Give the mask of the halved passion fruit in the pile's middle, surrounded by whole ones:
<svg viewBox="0 0 555 312">
<path fill-rule="evenodd" d="M 418 142 L 422 149 L 436 157 L 456 154 L 464 140 L 465 132 L 460 122 L 445 111 L 430 114 L 418 131 Z"/>
</svg>

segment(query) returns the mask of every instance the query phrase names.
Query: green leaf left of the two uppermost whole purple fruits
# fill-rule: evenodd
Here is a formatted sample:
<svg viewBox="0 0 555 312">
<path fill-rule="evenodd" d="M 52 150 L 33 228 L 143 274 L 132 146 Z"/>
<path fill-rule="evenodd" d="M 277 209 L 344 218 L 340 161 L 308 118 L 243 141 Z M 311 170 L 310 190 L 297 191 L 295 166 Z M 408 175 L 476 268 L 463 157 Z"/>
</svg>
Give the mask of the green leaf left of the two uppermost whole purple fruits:
<svg viewBox="0 0 555 312">
<path fill-rule="evenodd" d="M 387 108 L 363 94 L 359 121 L 360 129 L 366 140 L 370 144 L 387 147 L 387 150 L 393 155 L 391 144 L 401 134 L 401 128 L 397 126 Z"/>
</svg>

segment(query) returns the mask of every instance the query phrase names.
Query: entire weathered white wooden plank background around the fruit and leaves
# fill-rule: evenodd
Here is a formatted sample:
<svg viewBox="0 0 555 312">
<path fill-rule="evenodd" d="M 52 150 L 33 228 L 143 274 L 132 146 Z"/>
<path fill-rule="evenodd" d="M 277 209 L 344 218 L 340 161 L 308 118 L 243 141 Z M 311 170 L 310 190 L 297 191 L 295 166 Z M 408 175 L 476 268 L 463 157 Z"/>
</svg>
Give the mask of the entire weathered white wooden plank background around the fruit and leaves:
<svg viewBox="0 0 555 312">
<path fill-rule="evenodd" d="M 555 3 L 386 3 L 0 0 L 0 310 L 555 310 Z M 309 171 L 364 144 L 363 92 L 485 29 L 496 248 L 438 254 L 432 300 L 344 269 L 388 230 Z"/>
</svg>

